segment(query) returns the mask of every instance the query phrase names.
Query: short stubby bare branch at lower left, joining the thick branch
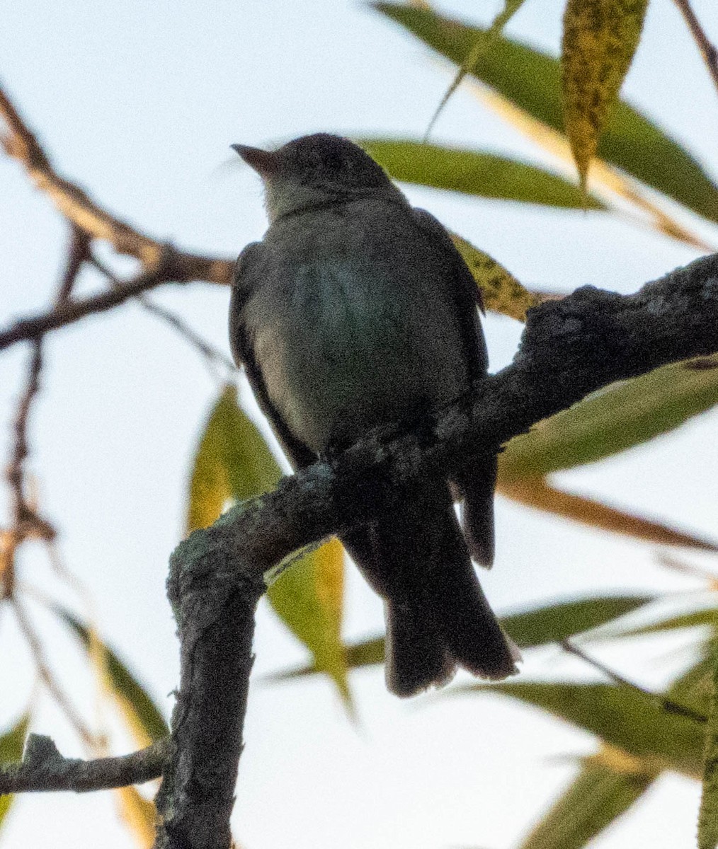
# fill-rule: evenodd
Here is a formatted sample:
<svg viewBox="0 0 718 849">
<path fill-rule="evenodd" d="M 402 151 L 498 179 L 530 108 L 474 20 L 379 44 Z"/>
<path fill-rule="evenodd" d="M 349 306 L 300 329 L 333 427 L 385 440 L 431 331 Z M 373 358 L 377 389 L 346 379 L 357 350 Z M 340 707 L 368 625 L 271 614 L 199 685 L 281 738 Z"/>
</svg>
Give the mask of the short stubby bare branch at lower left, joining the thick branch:
<svg viewBox="0 0 718 849">
<path fill-rule="evenodd" d="M 167 757 L 169 738 L 130 755 L 100 757 L 93 761 L 65 758 L 49 737 L 30 734 L 22 761 L 0 769 L 0 796 L 5 793 L 47 790 L 109 790 L 156 779 Z"/>
</svg>

